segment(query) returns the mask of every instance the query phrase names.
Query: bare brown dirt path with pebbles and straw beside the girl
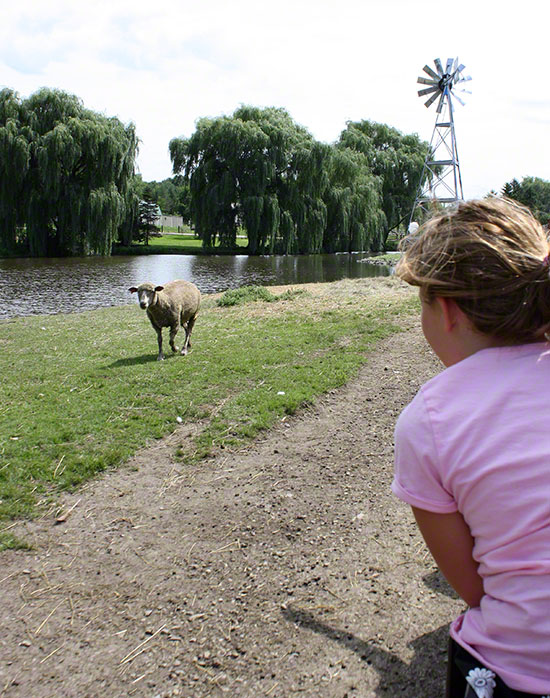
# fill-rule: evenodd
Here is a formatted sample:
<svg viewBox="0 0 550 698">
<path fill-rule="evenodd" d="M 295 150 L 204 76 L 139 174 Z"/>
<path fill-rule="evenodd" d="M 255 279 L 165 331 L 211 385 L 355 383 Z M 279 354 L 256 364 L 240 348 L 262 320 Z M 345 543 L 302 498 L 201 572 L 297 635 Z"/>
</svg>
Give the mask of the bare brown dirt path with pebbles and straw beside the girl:
<svg viewBox="0 0 550 698">
<path fill-rule="evenodd" d="M 246 449 L 191 469 L 182 426 L 64 523 L 20 525 L 0 695 L 441 696 L 463 604 L 389 489 L 395 420 L 440 368 L 410 324 Z"/>
</svg>

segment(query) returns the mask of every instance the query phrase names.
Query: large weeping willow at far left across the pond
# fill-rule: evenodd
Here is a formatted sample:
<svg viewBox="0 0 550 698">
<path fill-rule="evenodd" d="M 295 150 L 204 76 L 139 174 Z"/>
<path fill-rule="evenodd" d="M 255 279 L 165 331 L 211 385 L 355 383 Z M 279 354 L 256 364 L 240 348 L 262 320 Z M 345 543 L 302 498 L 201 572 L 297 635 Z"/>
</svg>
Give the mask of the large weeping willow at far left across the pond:
<svg viewBox="0 0 550 698">
<path fill-rule="evenodd" d="M 74 95 L 0 92 L 1 243 L 19 235 L 33 256 L 110 254 L 133 202 L 137 146 L 133 124 Z"/>
</svg>

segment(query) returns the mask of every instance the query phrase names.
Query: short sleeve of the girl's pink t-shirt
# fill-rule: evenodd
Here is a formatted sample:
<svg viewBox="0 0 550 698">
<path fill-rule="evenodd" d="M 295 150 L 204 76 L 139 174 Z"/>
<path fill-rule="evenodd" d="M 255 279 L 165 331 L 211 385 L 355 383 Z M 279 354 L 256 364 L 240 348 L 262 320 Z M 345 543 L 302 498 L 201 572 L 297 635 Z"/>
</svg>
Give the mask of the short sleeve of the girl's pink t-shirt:
<svg viewBox="0 0 550 698">
<path fill-rule="evenodd" d="M 458 511 L 441 478 L 441 463 L 422 390 L 403 410 L 395 426 L 392 492 L 407 504 L 437 514 Z"/>
</svg>

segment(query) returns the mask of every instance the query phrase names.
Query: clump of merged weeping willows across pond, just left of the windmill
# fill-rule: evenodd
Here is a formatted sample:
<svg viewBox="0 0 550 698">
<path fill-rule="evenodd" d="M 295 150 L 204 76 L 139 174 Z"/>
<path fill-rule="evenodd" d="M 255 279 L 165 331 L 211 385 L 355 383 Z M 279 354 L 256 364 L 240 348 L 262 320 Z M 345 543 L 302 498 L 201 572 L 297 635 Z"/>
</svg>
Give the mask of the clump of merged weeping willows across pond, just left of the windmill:
<svg viewBox="0 0 550 698">
<path fill-rule="evenodd" d="M 284 109 L 242 106 L 170 142 L 206 247 L 301 254 L 379 250 L 410 211 L 428 144 L 384 124 L 350 122 L 316 141 Z"/>
</svg>

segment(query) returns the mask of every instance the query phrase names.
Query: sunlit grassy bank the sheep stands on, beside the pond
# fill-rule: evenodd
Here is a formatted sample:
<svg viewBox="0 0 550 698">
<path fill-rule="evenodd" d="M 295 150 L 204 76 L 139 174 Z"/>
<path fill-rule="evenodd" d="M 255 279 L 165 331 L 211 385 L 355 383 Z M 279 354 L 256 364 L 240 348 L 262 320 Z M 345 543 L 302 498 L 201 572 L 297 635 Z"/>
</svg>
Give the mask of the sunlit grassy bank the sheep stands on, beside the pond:
<svg viewBox="0 0 550 698">
<path fill-rule="evenodd" d="M 201 425 L 180 454 L 192 465 L 342 385 L 417 303 L 391 278 L 269 290 L 207 297 L 193 351 L 164 362 L 137 305 L 0 323 L 0 547 L 17 545 L 10 519 L 181 423 Z"/>
</svg>

